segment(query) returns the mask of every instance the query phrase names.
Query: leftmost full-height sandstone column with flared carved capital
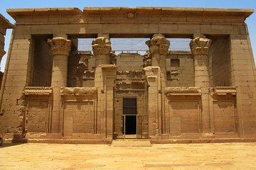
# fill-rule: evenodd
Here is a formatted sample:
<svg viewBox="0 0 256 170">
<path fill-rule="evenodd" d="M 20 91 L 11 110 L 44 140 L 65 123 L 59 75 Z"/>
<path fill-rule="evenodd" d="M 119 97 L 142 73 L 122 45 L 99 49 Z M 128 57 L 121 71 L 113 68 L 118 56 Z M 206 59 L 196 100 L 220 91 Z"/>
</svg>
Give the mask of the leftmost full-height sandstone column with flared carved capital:
<svg viewBox="0 0 256 170">
<path fill-rule="evenodd" d="M 53 73 L 51 80 L 51 86 L 53 87 L 53 110 L 50 133 L 60 134 L 60 87 L 67 86 L 68 55 L 70 55 L 71 41 L 58 37 L 48 40 L 48 43 L 51 45 L 53 53 Z"/>
</svg>

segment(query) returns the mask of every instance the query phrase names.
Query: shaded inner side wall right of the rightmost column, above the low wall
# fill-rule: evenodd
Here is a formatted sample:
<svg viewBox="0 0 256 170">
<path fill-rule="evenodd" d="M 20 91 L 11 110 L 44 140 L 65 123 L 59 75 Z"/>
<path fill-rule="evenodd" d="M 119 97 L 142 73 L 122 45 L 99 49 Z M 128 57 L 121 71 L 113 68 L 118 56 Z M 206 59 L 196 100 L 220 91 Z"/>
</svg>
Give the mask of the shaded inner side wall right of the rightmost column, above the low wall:
<svg viewBox="0 0 256 170">
<path fill-rule="evenodd" d="M 228 38 L 213 40 L 209 52 L 211 86 L 230 86 L 230 45 Z"/>
</svg>

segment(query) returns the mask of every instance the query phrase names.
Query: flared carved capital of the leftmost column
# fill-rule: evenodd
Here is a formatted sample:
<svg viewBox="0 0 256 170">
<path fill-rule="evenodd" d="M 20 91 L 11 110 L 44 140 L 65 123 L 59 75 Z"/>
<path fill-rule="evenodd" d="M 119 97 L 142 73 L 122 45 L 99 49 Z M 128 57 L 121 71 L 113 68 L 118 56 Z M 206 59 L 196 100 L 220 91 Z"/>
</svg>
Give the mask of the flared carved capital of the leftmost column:
<svg viewBox="0 0 256 170">
<path fill-rule="evenodd" d="M 53 38 L 48 40 L 53 55 L 70 55 L 71 41 L 65 38 Z"/>
</svg>

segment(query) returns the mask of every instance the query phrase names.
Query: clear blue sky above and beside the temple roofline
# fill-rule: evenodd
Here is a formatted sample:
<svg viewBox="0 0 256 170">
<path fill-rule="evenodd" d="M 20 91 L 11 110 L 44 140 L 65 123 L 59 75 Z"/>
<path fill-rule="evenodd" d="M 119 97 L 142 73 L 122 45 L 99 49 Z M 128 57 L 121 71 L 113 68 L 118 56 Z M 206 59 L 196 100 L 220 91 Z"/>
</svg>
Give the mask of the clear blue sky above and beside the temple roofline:
<svg viewBox="0 0 256 170">
<path fill-rule="evenodd" d="M 55 7 L 84 7 L 92 6 L 166 6 L 166 7 L 203 7 L 203 8 L 253 8 L 256 10 L 256 0 L 0 0 L 0 13 L 5 16 L 11 23 L 15 21 L 6 13 L 7 8 L 55 8 Z M 247 20 L 252 50 L 256 58 L 256 12 Z M 11 37 L 11 30 L 6 33 L 5 50 Z M 4 71 L 6 55 L 1 61 L 1 71 Z"/>
</svg>

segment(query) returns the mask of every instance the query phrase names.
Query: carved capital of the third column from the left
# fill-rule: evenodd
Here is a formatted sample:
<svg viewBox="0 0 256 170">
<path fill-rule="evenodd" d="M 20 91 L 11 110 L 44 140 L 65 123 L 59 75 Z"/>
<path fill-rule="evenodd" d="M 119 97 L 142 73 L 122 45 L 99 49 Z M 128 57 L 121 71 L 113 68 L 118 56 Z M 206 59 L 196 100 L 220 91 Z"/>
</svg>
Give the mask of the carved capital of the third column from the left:
<svg viewBox="0 0 256 170">
<path fill-rule="evenodd" d="M 146 41 L 146 45 L 149 46 L 149 52 L 151 55 L 166 55 L 168 53 L 170 41 L 162 34 L 154 34 L 151 40 Z"/>
</svg>

